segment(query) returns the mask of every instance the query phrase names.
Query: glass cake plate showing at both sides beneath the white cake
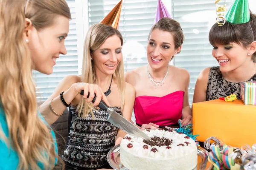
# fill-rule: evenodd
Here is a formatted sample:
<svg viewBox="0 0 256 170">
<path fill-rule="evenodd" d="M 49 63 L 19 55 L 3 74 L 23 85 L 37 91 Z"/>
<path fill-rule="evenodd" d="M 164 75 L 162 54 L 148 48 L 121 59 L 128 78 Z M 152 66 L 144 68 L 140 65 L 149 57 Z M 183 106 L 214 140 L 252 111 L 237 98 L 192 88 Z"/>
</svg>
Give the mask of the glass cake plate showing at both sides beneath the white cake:
<svg viewBox="0 0 256 170">
<path fill-rule="evenodd" d="M 211 170 L 212 164 L 208 161 L 207 150 L 204 150 L 202 147 L 198 147 L 198 165 L 192 170 Z M 128 170 L 120 163 L 120 144 L 114 146 L 108 152 L 108 163 L 114 170 Z"/>
</svg>

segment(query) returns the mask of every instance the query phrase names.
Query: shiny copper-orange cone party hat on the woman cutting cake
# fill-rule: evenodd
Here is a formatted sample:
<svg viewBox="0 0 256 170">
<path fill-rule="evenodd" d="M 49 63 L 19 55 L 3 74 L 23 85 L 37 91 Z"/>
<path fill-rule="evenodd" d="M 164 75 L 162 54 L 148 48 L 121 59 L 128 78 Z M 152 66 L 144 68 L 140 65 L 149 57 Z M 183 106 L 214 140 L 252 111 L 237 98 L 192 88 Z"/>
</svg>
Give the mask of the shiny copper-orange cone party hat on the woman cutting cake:
<svg viewBox="0 0 256 170">
<path fill-rule="evenodd" d="M 119 20 L 122 8 L 122 0 L 102 19 L 100 23 L 110 25 L 113 28 L 118 29 Z"/>
</svg>

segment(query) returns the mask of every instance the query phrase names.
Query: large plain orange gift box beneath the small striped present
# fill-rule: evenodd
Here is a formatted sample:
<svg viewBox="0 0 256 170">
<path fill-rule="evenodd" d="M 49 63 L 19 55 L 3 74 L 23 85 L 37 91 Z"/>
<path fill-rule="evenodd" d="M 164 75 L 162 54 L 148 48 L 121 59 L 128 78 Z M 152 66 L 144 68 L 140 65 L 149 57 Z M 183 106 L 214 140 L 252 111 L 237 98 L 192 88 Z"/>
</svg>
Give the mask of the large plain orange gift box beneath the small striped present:
<svg viewBox="0 0 256 170">
<path fill-rule="evenodd" d="M 192 106 L 193 135 L 199 135 L 198 141 L 215 136 L 233 147 L 256 143 L 256 105 L 215 99 Z"/>
</svg>

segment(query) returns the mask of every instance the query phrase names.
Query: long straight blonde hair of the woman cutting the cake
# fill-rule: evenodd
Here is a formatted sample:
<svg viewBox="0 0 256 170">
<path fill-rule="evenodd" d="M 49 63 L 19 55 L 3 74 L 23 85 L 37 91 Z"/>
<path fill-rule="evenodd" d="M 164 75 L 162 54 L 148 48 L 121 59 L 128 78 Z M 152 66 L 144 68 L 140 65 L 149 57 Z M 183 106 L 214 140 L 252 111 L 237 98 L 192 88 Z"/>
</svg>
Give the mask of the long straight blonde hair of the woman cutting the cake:
<svg viewBox="0 0 256 170">
<path fill-rule="evenodd" d="M 121 40 L 121 45 L 123 45 L 123 39 L 121 33 L 108 25 L 96 23 L 93 24 L 87 31 L 87 35 L 84 40 L 84 56 L 83 56 L 83 65 L 82 65 L 82 75 L 81 82 L 87 82 L 92 84 L 97 84 L 95 66 L 91 61 L 91 54 L 93 51 L 99 49 L 99 47 L 105 42 L 108 37 L 117 35 Z M 119 62 L 116 71 L 114 73 L 117 86 L 121 95 L 121 109 L 124 105 L 124 94 L 125 94 L 125 75 L 124 75 L 124 64 L 123 59 Z M 95 116 L 92 112 L 93 105 L 88 104 L 86 99 L 81 97 L 79 105 L 77 107 L 79 116 L 86 117 L 91 113 L 92 118 L 95 119 Z"/>
</svg>

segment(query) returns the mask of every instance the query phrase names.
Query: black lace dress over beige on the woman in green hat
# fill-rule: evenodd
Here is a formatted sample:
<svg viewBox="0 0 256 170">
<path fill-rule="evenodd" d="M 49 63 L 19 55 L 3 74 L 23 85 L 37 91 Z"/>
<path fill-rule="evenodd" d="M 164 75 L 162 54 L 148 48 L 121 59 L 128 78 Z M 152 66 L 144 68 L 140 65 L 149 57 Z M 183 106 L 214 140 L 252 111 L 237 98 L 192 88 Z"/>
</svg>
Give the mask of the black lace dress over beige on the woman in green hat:
<svg viewBox="0 0 256 170">
<path fill-rule="evenodd" d="M 256 74 L 246 82 L 256 81 Z M 220 67 L 212 67 L 209 71 L 207 83 L 206 100 L 214 100 L 236 94 L 237 99 L 241 99 L 240 82 L 229 82 L 222 77 Z"/>
</svg>

